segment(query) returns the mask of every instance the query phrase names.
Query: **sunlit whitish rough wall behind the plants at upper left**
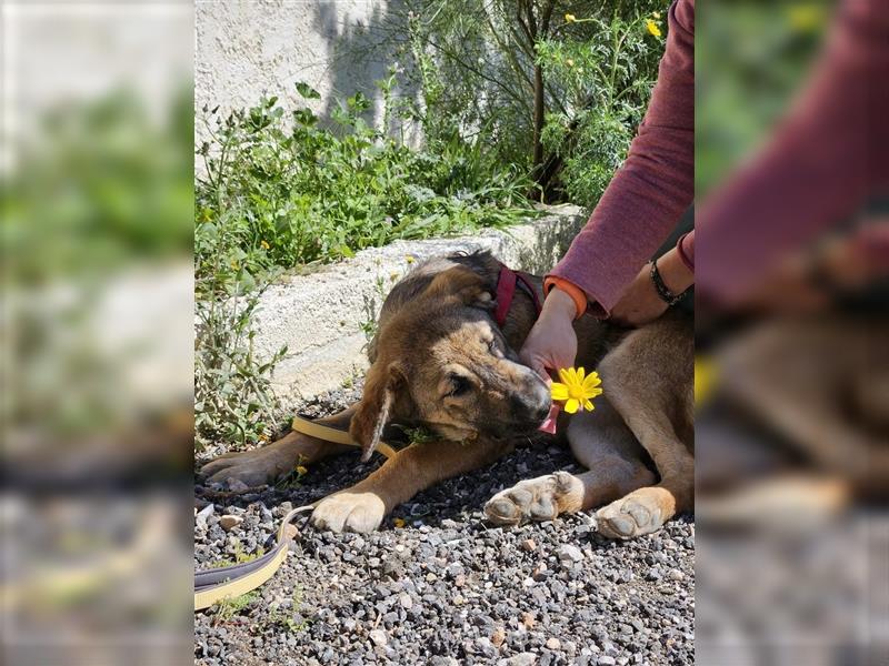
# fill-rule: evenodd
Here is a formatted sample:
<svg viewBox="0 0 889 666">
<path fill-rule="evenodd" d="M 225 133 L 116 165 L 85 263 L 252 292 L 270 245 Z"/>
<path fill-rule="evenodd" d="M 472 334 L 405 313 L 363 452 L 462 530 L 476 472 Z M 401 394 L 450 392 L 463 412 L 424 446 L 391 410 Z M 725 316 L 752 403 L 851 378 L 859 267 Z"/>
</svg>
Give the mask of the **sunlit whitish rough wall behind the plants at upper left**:
<svg viewBox="0 0 889 666">
<path fill-rule="evenodd" d="M 321 93 L 309 107 L 329 117 L 336 100 L 357 91 L 377 100 L 374 81 L 387 75 L 394 56 L 373 44 L 380 31 L 403 33 L 396 22 L 397 0 L 236 1 L 196 4 L 194 102 L 222 111 L 256 104 L 276 94 L 286 105 L 306 102 L 293 84 L 304 81 Z M 391 34 L 391 33 L 390 33 Z M 409 94 L 409 92 L 406 92 Z M 201 138 L 201 128 L 197 127 Z"/>
</svg>

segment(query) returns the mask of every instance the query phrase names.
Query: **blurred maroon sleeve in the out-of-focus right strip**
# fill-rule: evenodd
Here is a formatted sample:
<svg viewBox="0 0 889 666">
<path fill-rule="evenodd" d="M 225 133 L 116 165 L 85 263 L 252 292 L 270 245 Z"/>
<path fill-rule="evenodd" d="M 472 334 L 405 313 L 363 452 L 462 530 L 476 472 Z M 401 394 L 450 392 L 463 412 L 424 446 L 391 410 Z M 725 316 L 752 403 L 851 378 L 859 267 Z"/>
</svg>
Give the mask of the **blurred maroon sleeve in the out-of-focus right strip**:
<svg viewBox="0 0 889 666">
<path fill-rule="evenodd" d="M 788 253 L 889 192 L 889 12 L 849 0 L 766 148 L 699 209 L 697 289 L 723 303 Z"/>
</svg>

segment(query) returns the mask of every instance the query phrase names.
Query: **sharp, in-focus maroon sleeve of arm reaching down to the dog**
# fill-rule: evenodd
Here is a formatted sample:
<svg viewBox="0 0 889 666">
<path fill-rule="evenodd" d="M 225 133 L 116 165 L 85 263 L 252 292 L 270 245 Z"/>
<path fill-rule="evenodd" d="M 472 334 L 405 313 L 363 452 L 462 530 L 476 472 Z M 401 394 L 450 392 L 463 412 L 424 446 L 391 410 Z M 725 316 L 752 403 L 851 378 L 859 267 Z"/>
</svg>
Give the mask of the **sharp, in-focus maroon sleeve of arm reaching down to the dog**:
<svg viewBox="0 0 889 666">
<path fill-rule="evenodd" d="M 606 313 L 695 195 L 695 1 L 676 0 L 668 26 L 658 82 L 627 160 L 550 273 Z"/>
</svg>

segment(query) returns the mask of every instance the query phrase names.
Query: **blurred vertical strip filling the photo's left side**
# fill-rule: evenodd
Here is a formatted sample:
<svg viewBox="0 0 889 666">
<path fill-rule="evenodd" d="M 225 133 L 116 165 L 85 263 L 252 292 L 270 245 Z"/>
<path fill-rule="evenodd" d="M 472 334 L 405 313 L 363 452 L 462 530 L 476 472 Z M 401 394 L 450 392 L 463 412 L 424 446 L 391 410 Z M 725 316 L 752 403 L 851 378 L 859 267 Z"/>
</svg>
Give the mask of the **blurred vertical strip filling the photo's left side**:
<svg viewBox="0 0 889 666">
<path fill-rule="evenodd" d="M 192 12 L 2 3 L 3 664 L 190 660 Z"/>
</svg>

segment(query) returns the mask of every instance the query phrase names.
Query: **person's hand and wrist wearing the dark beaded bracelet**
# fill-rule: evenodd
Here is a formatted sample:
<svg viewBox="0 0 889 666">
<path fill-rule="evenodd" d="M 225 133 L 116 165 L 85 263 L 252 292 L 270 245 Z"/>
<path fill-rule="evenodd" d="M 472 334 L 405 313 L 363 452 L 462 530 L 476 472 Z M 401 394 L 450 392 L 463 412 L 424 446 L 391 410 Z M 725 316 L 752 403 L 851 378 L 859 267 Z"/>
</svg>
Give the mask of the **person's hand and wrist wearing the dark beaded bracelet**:
<svg viewBox="0 0 889 666">
<path fill-rule="evenodd" d="M 675 294 L 681 294 L 695 283 L 695 274 L 682 263 L 676 249 L 658 260 L 658 272 L 667 289 Z M 646 264 L 611 309 L 611 321 L 625 326 L 641 326 L 658 319 L 667 307 L 651 281 L 651 265 Z"/>
</svg>

